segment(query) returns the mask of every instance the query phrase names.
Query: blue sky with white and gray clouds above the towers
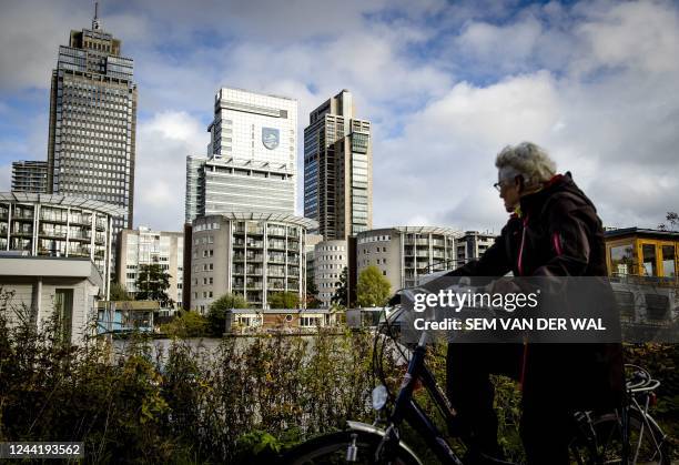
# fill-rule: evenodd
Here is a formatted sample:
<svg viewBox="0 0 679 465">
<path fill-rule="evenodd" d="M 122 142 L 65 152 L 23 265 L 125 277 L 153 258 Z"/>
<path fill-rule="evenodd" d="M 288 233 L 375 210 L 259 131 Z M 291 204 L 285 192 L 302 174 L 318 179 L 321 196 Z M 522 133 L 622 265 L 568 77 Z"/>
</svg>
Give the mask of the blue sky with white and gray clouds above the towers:
<svg viewBox="0 0 679 465">
<path fill-rule="evenodd" d="M 0 0 L 0 191 L 47 160 L 59 44 L 92 0 Z M 373 123 L 374 228 L 499 232 L 496 154 L 533 141 L 606 226 L 679 210 L 679 3 L 669 1 L 103 0 L 139 88 L 134 226 L 180 231 L 185 158 L 217 89 L 298 102 L 342 89 Z M 297 214 L 303 138 L 297 140 Z"/>
</svg>

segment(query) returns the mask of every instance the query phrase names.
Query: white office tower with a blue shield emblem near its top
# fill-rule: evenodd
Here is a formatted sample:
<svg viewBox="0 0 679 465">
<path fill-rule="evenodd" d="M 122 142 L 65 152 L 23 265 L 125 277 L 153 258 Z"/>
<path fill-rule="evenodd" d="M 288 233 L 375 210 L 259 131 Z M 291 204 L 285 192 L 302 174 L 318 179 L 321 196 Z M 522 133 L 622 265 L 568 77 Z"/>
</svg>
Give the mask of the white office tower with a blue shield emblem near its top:
<svg viewBox="0 0 679 465">
<path fill-rule="evenodd" d="M 186 222 L 229 212 L 294 214 L 295 100 L 220 89 L 207 131 L 207 156 L 186 158 Z"/>
</svg>

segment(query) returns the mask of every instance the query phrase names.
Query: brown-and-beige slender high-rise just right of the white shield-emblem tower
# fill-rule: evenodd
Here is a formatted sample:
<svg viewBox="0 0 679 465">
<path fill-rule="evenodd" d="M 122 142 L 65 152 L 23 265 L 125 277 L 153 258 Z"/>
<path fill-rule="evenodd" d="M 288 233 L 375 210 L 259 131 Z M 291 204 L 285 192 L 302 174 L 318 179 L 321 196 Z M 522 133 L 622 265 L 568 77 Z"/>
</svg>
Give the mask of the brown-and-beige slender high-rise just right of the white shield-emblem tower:
<svg viewBox="0 0 679 465">
<path fill-rule="evenodd" d="M 369 121 L 354 118 L 346 89 L 310 114 L 304 129 L 304 216 L 326 241 L 373 228 Z"/>
</svg>

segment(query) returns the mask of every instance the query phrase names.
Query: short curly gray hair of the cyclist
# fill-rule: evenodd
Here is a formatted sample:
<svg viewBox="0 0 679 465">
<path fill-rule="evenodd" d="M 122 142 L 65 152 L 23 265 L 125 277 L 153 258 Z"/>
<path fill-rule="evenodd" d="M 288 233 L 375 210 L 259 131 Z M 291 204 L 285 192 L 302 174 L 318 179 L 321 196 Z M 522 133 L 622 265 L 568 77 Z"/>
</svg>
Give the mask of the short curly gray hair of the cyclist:
<svg viewBox="0 0 679 465">
<path fill-rule="evenodd" d="M 518 145 L 507 145 L 495 160 L 495 166 L 500 171 L 523 175 L 527 185 L 537 185 L 549 181 L 556 174 L 556 163 L 547 151 L 533 142 L 521 142 Z"/>
</svg>

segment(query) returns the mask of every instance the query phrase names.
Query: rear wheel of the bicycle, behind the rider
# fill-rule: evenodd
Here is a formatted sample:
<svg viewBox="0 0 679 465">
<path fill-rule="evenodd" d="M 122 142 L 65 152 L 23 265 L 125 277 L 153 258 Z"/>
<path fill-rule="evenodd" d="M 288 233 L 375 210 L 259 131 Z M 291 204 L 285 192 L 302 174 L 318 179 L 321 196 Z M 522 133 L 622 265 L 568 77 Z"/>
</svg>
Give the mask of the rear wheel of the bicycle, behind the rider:
<svg viewBox="0 0 679 465">
<path fill-rule="evenodd" d="M 617 413 L 597 416 L 589 427 L 587 439 L 571 447 L 578 464 L 622 464 L 622 421 Z M 627 463 L 637 465 L 670 465 L 666 436 L 650 416 L 638 408 L 629 410 Z"/>
</svg>

